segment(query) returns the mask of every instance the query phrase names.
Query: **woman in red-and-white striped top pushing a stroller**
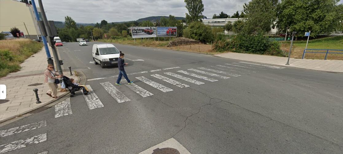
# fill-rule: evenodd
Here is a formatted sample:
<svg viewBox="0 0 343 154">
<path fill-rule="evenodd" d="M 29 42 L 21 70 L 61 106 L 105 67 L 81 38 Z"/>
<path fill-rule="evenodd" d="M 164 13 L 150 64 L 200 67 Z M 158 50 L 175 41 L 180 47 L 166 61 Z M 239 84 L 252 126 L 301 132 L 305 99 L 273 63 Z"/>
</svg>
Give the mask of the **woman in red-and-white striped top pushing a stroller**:
<svg viewBox="0 0 343 154">
<path fill-rule="evenodd" d="M 54 66 L 52 64 L 48 64 L 48 68 L 44 71 L 44 83 L 46 83 L 50 90 L 46 92 L 52 98 L 58 98 L 57 96 L 57 83 L 56 80 L 61 78 L 62 75 L 59 75 L 55 72 Z"/>
</svg>

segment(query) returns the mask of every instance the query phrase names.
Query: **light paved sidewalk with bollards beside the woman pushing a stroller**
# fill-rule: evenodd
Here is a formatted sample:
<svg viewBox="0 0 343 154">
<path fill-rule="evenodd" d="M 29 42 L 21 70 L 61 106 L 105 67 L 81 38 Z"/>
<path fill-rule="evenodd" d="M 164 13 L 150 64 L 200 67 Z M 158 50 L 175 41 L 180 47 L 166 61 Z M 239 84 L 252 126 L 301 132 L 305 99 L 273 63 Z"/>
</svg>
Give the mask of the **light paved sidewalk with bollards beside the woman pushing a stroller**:
<svg viewBox="0 0 343 154">
<path fill-rule="evenodd" d="M 54 100 L 54 98 L 46 95 L 49 87 L 44 84 L 43 72 L 47 67 L 44 47 L 32 57 L 26 59 L 20 66 L 22 67 L 20 71 L 0 78 L 0 84 L 5 84 L 7 89 L 6 99 L 0 100 L 0 122 L 25 114 Z M 69 74 L 69 72 L 63 72 L 63 74 Z M 38 89 L 38 96 L 42 102 L 40 104 L 36 104 L 34 88 Z M 58 93 L 58 95 L 62 94 L 64 92 Z M 4 101 L 8 102 L 3 103 Z"/>
</svg>

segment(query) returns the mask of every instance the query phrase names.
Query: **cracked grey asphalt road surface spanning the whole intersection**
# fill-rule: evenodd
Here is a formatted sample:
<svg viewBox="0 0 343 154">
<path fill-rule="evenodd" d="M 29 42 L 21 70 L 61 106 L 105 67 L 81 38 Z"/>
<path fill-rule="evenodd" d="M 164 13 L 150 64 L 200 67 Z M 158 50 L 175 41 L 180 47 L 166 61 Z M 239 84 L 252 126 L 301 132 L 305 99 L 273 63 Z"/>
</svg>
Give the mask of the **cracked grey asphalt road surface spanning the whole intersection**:
<svg viewBox="0 0 343 154">
<path fill-rule="evenodd" d="M 343 74 L 115 44 L 129 62 L 125 68 L 129 78 L 149 92 L 140 91 L 146 96 L 142 97 L 125 80 L 123 85 L 115 85 L 118 68 L 102 69 L 91 63 L 93 44 L 58 47 L 64 67 L 81 70 L 93 95 L 84 98 L 78 92 L 70 98 L 67 109 L 72 114 L 55 118 L 55 106 L 0 127 L 0 153 L 137 154 L 170 138 L 192 154 L 343 151 Z M 137 59 L 144 61 L 133 61 Z M 167 77 L 166 81 L 175 85 L 153 74 Z M 124 102 L 116 101 L 115 90 L 126 96 L 118 98 Z M 88 106 L 92 103 L 94 109 Z M 68 102 L 64 104 L 68 106 Z M 8 129 L 40 121 L 43 126 L 39 128 L 9 133 Z M 31 142 L 28 138 L 34 136 L 36 142 Z"/>
</svg>

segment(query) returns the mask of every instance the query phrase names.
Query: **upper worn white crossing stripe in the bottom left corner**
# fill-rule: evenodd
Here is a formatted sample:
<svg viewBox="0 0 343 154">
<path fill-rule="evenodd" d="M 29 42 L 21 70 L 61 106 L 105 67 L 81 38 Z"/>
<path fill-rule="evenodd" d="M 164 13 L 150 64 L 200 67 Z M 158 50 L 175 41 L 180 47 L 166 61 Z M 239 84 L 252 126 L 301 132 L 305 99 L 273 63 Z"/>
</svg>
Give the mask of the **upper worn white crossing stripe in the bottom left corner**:
<svg viewBox="0 0 343 154">
<path fill-rule="evenodd" d="M 20 127 L 14 127 L 11 129 L 0 131 L 0 137 L 7 137 L 9 135 L 13 135 L 13 134 L 21 133 L 21 132 L 26 132 L 29 130 L 34 130 L 34 129 L 45 127 L 45 126 L 46 126 L 46 121 L 44 120 L 44 121 L 31 123 L 28 125 L 23 125 Z"/>
</svg>

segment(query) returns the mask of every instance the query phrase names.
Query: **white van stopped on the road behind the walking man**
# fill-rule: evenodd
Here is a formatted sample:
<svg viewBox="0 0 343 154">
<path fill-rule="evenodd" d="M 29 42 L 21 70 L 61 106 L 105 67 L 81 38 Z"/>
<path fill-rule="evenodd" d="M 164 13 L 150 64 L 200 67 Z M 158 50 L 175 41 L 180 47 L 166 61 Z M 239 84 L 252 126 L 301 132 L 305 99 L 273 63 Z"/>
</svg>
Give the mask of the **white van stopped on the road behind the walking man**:
<svg viewBox="0 0 343 154">
<path fill-rule="evenodd" d="M 117 65 L 119 54 L 113 44 L 94 44 L 92 48 L 94 64 L 101 64 L 101 68 Z"/>
</svg>

